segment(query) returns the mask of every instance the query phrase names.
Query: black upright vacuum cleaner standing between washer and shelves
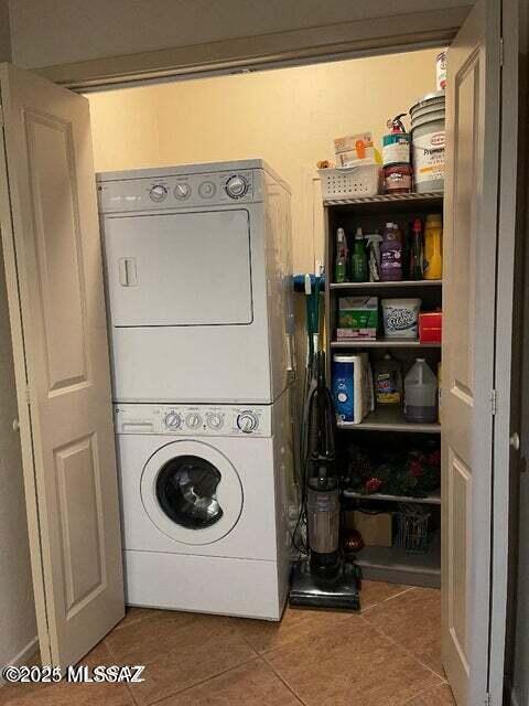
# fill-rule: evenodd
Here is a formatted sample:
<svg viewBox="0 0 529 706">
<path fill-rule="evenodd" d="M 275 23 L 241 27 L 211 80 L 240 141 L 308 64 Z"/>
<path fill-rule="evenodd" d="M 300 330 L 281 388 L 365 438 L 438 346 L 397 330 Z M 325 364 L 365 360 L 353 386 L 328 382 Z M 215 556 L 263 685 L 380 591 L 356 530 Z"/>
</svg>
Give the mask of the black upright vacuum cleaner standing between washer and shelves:
<svg viewBox="0 0 529 706">
<path fill-rule="evenodd" d="M 290 605 L 359 610 L 358 574 L 344 563 L 339 548 L 336 415 L 325 382 L 325 353 L 317 350 L 317 303 L 315 309 L 315 315 L 307 318 L 313 345 L 309 345 L 302 428 L 302 509 L 293 542 L 303 558 L 294 564 Z M 314 314 L 307 303 L 309 313 Z"/>
</svg>

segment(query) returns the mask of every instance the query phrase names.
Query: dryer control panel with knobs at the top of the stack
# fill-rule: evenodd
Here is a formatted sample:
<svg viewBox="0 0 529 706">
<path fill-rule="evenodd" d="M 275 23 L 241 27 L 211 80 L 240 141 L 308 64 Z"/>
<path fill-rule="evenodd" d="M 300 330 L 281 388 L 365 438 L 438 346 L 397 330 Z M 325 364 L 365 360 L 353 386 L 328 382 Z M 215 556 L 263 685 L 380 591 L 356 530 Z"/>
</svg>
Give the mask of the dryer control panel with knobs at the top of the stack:
<svg viewBox="0 0 529 706">
<path fill-rule="evenodd" d="M 98 183 L 99 210 L 150 211 L 250 203 L 261 199 L 262 178 L 251 169 Z"/>
</svg>

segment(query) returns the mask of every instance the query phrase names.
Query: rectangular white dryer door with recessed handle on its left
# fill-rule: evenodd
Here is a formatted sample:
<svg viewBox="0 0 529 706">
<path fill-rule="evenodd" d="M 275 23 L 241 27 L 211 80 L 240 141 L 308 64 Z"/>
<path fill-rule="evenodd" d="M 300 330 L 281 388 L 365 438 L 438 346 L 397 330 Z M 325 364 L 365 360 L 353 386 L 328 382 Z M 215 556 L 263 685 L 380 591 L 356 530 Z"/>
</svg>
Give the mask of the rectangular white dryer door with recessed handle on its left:
<svg viewBox="0 0 529 706">
<path fill-rule="evenodd" d="M 251 323 L 248 211 L 107 216 L 104 237 L 114 327 Z"/>
</svg>

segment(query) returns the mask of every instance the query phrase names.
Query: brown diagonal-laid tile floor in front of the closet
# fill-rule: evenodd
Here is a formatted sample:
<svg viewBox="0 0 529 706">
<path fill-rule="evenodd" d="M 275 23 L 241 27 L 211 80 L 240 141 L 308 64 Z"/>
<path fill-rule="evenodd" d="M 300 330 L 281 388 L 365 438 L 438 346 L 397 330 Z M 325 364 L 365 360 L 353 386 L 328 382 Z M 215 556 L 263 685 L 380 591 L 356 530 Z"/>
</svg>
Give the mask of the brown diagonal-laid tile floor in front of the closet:
<svg viewBox="0 0 529 706">
<path fill-rule="evenodd" d="M 439 591 L 364 581 L 361 601 L 280 624 L 132 608 L 84 663 L 145 664 L 145 682 L 6 686 L 0 706 L 454 706 Z"/>
</svg>

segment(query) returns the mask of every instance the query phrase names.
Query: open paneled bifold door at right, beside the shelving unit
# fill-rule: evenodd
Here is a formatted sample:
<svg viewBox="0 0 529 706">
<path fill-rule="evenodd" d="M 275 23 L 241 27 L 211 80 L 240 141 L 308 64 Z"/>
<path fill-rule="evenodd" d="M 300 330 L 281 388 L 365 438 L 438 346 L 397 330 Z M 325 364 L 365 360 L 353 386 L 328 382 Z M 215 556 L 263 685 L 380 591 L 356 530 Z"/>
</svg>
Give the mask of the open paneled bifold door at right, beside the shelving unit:
<svg viewBox="0 0 529 706">
<path fill-rule="evenodd" d="M 510 388 L 504 383 L 512 352 L 515 238 L 512 221 L 504 217 L 514 208 L 512 184 L 503 189 L 500 178 L 506 159 L 506 173 L 512 172 L 512 156 L 503 153 L 500 136 L 517 129 L 516 105 L 503 110 L 516 101 L 516 72 L 501 69 L 507 4 L 478 0 L 449 50 L 442 651 L 458 706 L 500 706 L 504 676 L 508 473 L 498 449 L 507 449 L 508 467 Z"/>
</svg>

